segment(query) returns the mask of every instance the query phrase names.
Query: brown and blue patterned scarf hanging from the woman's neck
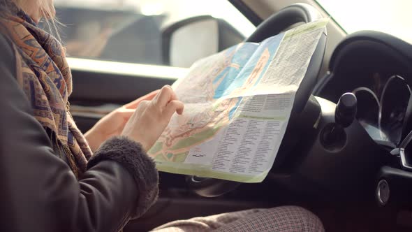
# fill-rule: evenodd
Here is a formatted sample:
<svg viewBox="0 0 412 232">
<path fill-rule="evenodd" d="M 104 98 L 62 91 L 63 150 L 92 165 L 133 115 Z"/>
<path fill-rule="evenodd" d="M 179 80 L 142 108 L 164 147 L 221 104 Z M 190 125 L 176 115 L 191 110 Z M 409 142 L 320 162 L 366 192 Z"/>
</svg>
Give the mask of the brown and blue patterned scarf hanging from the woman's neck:
<svg viewBox="0 0 412 232">
<path fill-rule="evenodd" d="M 17 6 L 4 2 L 8 14 L 0 17 L 0 31 L 14 43 L 17 82 L 31 103 L 34 117 L 48 133 L 55 153 L 64 154 L 79 177 L 92 153 L 69 113 L 72 77 L 64 48 Z"/>
</svg>

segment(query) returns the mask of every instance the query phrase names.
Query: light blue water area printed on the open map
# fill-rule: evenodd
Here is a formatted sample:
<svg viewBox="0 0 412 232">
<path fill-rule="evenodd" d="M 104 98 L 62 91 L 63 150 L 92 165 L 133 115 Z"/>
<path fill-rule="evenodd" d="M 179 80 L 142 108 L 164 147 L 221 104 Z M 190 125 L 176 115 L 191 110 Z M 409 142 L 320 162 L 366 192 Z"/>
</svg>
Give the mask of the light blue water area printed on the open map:
<svg viewBox="0 0 412 232">
<path fill-rule="evenodd" d="M 262 78 L 265 73 L 265 70 L 270 65 L 270 61 L 272 61 L 274 55 L 276 54 L 282 38 L 284 38 L 284 34 L 267 38 L 265 41 L 260 43 L 257 49 L 256 44 L 244 44 L 242 48 L 235 53 L 232 59 L 232 64 L 238 64 L 240 68 L 233 68 L 229 66 L 214 79 L 213 82 L 215 84 L 223 78 L 214 92 L 214 99 L 219 99 L 222 96 L 230 94 L 234 89 L 242 87 L 247 78 L 249 78 L 253 68 L 255 68 L 258 64 L 263 52 L 267 50 L 270 54 L 269 61 L 267 61 L 262 73 L 260 73 L 260 76 L 256 81 L 256 83 L 258 83 L 260 78 Z"/>
</svg>

